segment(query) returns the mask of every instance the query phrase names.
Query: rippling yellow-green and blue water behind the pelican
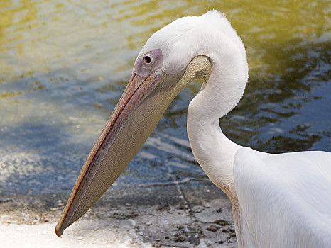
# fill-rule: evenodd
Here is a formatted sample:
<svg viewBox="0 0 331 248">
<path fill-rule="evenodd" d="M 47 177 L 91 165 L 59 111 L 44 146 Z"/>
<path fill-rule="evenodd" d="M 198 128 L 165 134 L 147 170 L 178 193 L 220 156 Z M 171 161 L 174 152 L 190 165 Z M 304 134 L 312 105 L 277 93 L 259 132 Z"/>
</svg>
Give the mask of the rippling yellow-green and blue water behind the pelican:
<svg viewBox="0 0 331 248">
<path fill-rule="evenodd" d="M 180 16 L 227 13 L 249 84 L 220 121 L 265 152 L 331 150 L 328 1 L 0 1 L 0 193 L 71 191 L 148 37 Z M 115 187 L 205 180 L 186 134 L 193 82 Z"/>
</svg>

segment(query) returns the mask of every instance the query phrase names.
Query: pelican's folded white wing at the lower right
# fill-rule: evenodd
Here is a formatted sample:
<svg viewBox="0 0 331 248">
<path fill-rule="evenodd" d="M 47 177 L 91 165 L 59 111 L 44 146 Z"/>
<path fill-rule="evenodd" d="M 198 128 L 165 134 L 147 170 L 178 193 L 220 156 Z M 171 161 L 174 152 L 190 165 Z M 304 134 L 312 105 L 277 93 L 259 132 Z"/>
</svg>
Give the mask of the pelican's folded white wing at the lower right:
<svg viewBox="0 0 331 248">
<path fill-rule="evenodd" d="M 256 247 L 331 244 L 331 153 L 266 154 L 248 147 L 234 157 L 243 238 Z"/>
</svg>

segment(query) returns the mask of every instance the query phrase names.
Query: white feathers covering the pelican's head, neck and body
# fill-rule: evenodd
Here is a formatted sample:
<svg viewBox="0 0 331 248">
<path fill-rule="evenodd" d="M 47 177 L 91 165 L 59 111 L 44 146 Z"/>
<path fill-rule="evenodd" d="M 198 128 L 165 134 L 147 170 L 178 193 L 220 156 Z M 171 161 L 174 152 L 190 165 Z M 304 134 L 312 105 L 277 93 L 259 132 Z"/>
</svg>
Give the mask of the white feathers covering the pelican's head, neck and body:
<svg viewBox="0 0 331 248">
<path fill-rule="evenodd" d="M 331 154 L 266 154 L 241 147 L 219 127 L 248 79 L 244 45 L 218 11 L 170 23 L 140 55 L 160 49 L 163 71 L 175 74 L 206 55 L 212 74 L 188 108 L 195 158 L 232 201 L 239 247 L 331 247 Z"/>
</svg>

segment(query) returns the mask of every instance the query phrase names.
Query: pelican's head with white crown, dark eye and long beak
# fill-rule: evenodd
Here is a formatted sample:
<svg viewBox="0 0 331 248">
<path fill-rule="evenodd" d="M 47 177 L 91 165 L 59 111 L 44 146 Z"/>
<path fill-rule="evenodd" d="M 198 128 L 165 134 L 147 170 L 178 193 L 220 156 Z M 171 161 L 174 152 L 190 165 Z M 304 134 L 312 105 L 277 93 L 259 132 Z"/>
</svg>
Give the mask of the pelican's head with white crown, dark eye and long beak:
<svg viewBox="0 0 331 248">
<path fill-rule="evenodd" d="M 204 81 L 203 91 L 214 64 L 232 67 L 227 60 L 234 53 L 244 56 L 244 62 L 239 63 L 246 63 L 242 41 L 218 11 L 179 18 L 148 39 L 119 103 L 82 167 L 55 227 L 56 235 L 60 237 L 112 186 L 151 135 L 173 98 L 195 79 Z M 215 75 L 218 76 L 222 77 L 222 72 Z M 244 75 L 245 83 L 246 78 Z M 236 86 L 239 96 L 235 101 L 239 101 L 245 85 Z"/>
</svg>

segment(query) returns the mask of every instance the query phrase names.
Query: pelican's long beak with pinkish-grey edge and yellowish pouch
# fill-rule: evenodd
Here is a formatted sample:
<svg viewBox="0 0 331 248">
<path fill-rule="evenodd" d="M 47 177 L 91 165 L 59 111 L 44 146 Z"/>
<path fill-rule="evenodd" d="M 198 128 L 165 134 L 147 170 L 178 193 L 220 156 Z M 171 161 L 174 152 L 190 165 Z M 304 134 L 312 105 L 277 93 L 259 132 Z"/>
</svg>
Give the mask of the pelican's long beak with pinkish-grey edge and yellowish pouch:
<svg viewBox="0 0 331 248">
<path fill-rule="evenodd" d="M 207 62 L 209 64 L 209 60 Z M 80 171 L 55 227 L 58 237 L 92 207 L 128 166 L 173 98 L 198 74 L 195 68 L 193 76 L 186 77 L 187 69 L 173 75 L 165 74 L 161 69 L 147 77 L 132 74 Z"/>
</svg>

